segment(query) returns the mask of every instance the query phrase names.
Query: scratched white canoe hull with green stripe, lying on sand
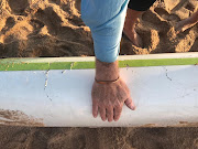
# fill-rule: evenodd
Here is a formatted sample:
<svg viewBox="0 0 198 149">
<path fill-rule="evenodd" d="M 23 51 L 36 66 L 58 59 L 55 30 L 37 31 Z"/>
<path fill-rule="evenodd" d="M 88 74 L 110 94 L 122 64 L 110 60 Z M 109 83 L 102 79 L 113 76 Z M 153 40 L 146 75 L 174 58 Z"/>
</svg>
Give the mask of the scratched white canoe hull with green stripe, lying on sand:
<svg viewBox="0 0 198 149">
<path fill-rule="evenodd" d="M 0 60 L 0 124 L 44 127 L 180 126 L 198 123 L 198 53 L 120 56 L 136 110 L 91 115 L 95 57 Z"/>
</svg>

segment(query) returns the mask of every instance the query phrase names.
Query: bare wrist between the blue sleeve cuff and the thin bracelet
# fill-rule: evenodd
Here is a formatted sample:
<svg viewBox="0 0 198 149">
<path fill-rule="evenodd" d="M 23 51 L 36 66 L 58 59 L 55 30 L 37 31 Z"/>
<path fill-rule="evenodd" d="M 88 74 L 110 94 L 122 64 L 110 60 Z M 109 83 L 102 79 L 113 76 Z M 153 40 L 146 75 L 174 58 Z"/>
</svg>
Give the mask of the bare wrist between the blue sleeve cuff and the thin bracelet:
<svg viewBox="0 0 198 149">
<path fill-rule="evenodd" d="M 112 63 L 106 63 L 96 58 L 97 81 L 116 81 L 118 77 L 119 77 L 118 61 Z"/>
</svg>

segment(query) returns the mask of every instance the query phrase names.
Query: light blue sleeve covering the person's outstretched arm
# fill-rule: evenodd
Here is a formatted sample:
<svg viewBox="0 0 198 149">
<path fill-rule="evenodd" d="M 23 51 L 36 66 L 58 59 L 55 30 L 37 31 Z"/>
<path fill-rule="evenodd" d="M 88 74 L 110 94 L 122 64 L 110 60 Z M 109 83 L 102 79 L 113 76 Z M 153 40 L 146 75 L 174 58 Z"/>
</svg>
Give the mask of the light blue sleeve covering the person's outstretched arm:
<svg viewBox="0 0 198 149">
<path fill-rule="evenodd" d="M 91 30 L 95 55 L 117 61 L 129 0 L 81 0 L 81 19 Z"/>
</svg>

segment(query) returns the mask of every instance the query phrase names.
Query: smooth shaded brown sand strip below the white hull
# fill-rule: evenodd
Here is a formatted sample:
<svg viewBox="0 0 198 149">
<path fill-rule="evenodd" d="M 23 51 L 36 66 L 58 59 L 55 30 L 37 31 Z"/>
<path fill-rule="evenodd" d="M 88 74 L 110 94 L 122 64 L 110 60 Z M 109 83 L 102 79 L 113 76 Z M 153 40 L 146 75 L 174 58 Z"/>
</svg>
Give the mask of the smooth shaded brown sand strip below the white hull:
<svg viewBox="0 0 198 149">
<path fill-rule="evenodd" d="M 197 149 L 198 128 L 0 127 L 1 149 Z"/>
</svg>

